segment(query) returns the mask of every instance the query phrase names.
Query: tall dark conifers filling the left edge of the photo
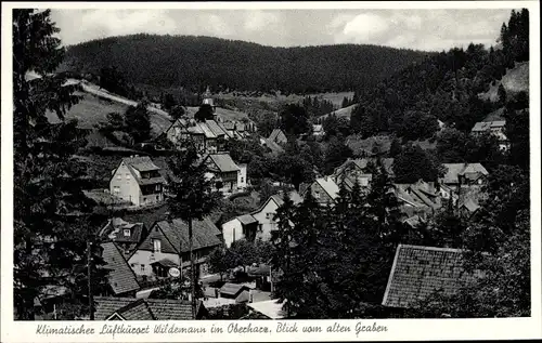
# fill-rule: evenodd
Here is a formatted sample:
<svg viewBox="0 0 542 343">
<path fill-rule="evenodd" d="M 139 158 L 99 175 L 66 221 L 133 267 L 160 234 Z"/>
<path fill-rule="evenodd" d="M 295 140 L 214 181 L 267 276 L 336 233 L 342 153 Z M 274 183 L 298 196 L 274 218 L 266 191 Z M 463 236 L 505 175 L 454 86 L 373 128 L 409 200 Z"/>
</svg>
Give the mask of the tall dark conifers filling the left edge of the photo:
<svg viewBox="0 0 542 343">
<path fill-rule="evenodd" d="M 88 286 L 105 286 L 102 261 L 87 256 L 99 243 L 92 241 L 93 202 L 80 186 L 87 168 L 73 157 L 85 137 L 76 122 L 64 120 L 79 98 L 74 85 L 51 75 L 64 56 L 56 32 L 49 10 L 13 10 L 13 293 L 16 318 L 24 320 L 35 319 L 35 301 L 50 287 L 66 288 L 60 319 L 75 319 L 89 314 Z M 27 81 L 29 71 L 40 77 Z M 61 122 L 51 124 L 47 110 Z"/>
</svg>

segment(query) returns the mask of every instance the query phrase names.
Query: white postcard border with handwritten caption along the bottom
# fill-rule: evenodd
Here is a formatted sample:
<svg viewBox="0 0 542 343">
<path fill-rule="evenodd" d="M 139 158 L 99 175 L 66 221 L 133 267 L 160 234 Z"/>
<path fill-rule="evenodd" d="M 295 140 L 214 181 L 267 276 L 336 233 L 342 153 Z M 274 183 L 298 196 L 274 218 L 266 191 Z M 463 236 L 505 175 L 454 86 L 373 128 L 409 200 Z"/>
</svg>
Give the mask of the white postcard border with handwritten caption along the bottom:
<svg viewBox="0 0 542 343">
<path fill-rule="evenodd" d="M 344 326 L 356 329 L 358 322 L 372 326 L 387 326 L 387 332 L 361 333 L 276 333 L 272 334 L 238 334 L 238 333 L 209 333 L 210 327 L 222 327 L 227 332 L 227 327 L 233 321 L 176 321 L 178 327 L 195 325 L 206 327 L 206 334 L 140 334 L 140 335 L 115 335 L 115 340 L 132 342 L 163 342 L 163 341 L 380 341 L 380 340 L 461 340 L 461 339 L 537 339 L 542 337 L 540 328 L 541 319 L 541 221 L 540 221 L 540 8 L 538 1 L 453 1 L 453 2 L 206 2 L 206 3 L 134 3 L 134 2 L 107 2 L 107 3 L 63 3 L 63 2 L 11 2 L 2 3 L 2 184 L 1 184 L 1 217 L 3 234 L 1 235 L 1 340 L 2 342 L 108 342 L 111 335 L 36 335 L 36 328 L 39 324 L 60 328 L 67 324 L 85 325 L 86 328 L 95 328 L 96 332 L 102 330 L 105 322 L 100 321 L 77 321 L 77 322 L 14 322 L 13 312 L 10 304 L 13 303 L 13 151 L 12 151 L 12 57 L 11 57 L 11 9 L 13 8 L 53 8 L 53 9 L 194 9 L 194 10 L 255 10 L 255 9 L 520 9 L 527 8 L 530 11 L 530 128 L 531 128 L 531 308 L 530 318 L 507 318 L 507 319 L 383 319 L 383 320 L 307 320 L 297 321 L 300 325 L 319 325 L 323 328 L 333 325 L 335 321 Z M 250 322 L 253 326 L 266 325 L 275 331 L 276 321 L 253 320 L 237 321 L 241 325 Z M 120 324 L 120 321 L 107 322 L 108 325 Z M 125 322 L 131 326 L 150 325 L 152 328 L 159 322 Z M 173 324 L 173 322 L 170 322 Z"/>
</svg>

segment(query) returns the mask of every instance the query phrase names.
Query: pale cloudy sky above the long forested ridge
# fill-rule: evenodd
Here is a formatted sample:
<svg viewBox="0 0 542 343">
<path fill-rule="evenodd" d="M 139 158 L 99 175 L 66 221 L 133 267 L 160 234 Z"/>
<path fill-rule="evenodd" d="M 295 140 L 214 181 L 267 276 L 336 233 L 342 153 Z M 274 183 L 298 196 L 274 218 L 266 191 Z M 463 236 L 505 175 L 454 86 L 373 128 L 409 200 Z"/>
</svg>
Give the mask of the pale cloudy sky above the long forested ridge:
<svg viewBox="0 0 542 343">
<path fill-rule="evenodd" d="M 64 44 L 139 32 L 272 47 L 335 43 L 415 50 L 494 44 L 511 10 L 53 10 Z"/>
</svg>

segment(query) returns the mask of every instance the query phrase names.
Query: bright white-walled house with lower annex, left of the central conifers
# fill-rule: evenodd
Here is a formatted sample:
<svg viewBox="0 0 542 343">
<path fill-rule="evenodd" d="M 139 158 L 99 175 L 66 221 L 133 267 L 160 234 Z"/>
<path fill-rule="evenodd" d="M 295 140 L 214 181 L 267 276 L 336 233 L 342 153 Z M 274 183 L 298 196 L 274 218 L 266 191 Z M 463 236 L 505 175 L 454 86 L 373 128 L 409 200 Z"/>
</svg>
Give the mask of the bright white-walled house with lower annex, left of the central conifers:
<svg viewBox="0 0 542 343">
<path fill-rule="evenodd" d="M 289 198 L 297 205 L 302 201 L 297 192 L 291 192 Z M 274 214 L 276 209 L 284 203 L 281 195 L 273 195 L 263 202 L 257 210 L 238 215 L 222 224 L 222 235 L 224 243 L 230 247 L 232 242 L 240 239 L 247 240 L 270 240 L 271 232 L 276 229 Z"/>
</svg>

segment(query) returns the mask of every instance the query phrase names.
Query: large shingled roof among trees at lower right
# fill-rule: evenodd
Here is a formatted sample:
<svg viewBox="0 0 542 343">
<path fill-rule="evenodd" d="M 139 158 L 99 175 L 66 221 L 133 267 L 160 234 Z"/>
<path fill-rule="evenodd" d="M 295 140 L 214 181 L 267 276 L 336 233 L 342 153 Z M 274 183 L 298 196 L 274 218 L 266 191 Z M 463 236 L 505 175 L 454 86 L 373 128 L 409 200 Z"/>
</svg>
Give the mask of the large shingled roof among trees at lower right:
<svg viewBox="0 0 542 343">
<path fill-rule="evenodd" d="M 434 291 L 452 294 L 472 280 L 459 249 L 399 245 L 383 305 L 409 307 Z"/>
</svg>

